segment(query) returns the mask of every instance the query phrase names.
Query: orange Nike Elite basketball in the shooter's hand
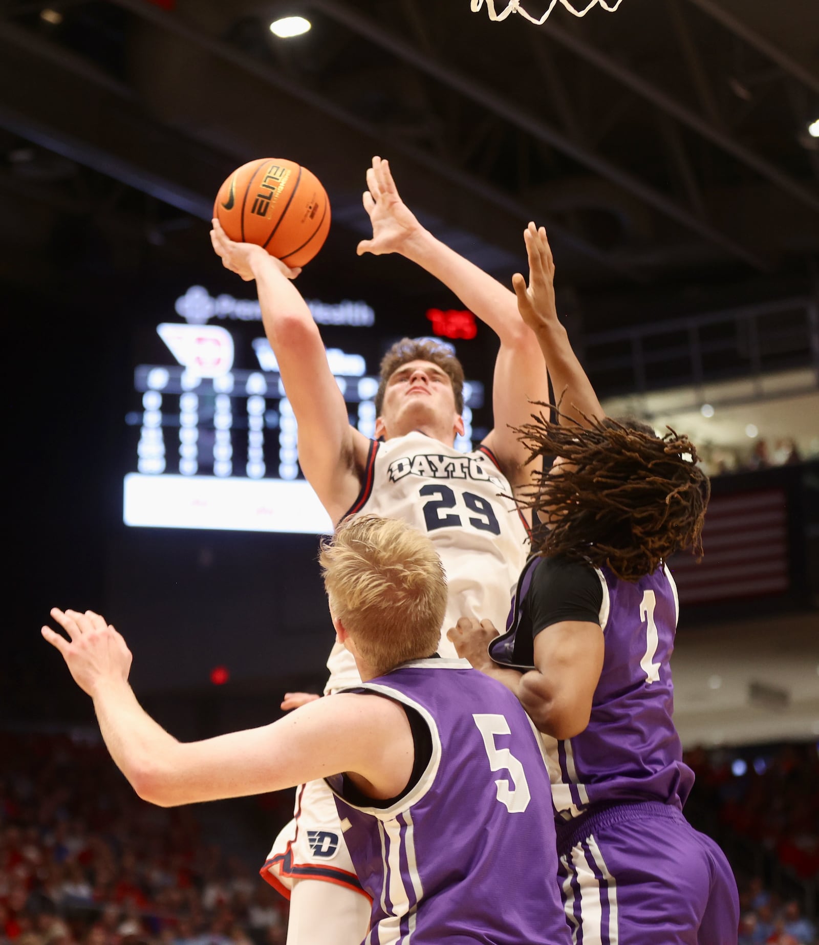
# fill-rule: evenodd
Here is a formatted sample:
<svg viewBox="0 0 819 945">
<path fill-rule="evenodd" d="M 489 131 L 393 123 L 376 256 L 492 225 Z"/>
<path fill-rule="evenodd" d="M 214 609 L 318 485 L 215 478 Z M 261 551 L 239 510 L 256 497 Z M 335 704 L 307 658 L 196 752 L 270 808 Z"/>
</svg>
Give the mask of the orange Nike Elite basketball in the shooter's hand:
<svg viewBox="0 0 819 945">
<path fill-rule="evenodd" d="M 257 243 L 288 266 L 304 266 L 330 232 L 330 200 L 306 167 L 281 158 L 242 164 L 219 188 L 213 215 L 230 239 Z"/>
</svg>

